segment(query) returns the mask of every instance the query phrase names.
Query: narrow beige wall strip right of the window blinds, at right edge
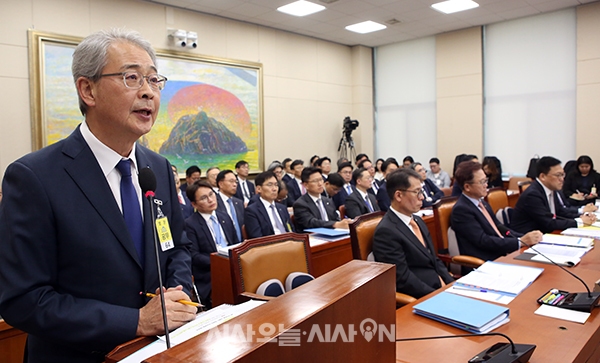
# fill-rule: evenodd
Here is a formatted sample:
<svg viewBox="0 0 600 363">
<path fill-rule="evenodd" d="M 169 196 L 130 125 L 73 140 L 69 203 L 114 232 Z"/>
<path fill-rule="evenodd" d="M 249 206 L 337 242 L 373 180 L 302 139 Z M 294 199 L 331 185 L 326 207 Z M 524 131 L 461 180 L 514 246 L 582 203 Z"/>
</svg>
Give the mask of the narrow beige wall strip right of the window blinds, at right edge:
<svg viewBox="0 0 600 363">
<path fill-rule="evenodd" d="M 600 161 L 600 3 L 577 8 L 576 153 Z M 599 165 L 596 165 L 598 169 Z"/>
</svg>

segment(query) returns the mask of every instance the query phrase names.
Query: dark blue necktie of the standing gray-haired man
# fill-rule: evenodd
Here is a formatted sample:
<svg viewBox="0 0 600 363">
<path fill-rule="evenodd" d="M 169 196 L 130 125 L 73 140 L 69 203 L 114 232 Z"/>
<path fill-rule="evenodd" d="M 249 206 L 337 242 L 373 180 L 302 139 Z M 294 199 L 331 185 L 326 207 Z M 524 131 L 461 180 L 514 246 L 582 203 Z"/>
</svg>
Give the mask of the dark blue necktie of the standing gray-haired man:
<svg viewBox="0 0 600 363">
<path fill-rule="evenodd" d="M 117 164 L 121 173 L 121 206 L 125 224 L 133 240 L 133 244 L 144 267 L 144 223 L 140 203 L 131 180 L 131 159 L 121 160 Z"/>
</svg>

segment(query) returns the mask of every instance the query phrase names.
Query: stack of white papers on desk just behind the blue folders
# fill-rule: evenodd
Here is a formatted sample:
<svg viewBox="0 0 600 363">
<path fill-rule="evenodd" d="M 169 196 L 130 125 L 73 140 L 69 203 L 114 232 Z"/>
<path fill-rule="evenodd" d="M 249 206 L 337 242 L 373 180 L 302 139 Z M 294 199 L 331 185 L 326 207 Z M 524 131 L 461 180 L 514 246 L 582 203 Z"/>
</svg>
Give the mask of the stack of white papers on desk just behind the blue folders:
<svg viewBox="0 0 600 363">
<path fill-rule="evenodd" d="M 487 261 L 468 275 L 461 277 L 454 286 L 517 296 L 543 271 L 543 268 L 538 267 Z"/>
</svg>

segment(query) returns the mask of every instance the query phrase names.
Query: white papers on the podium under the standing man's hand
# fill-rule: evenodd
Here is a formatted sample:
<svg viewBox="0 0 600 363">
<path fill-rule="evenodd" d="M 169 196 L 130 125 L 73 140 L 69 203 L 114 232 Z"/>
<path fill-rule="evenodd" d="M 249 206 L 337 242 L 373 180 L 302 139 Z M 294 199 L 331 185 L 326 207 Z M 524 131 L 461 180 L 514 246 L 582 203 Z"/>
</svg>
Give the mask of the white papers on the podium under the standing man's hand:
<svg viewBox="0 0 600 363">
<path fill-rule="evenodd" d="M 250 300 L 239 305 L 223 304 L 209 311 L 200 313 L 196 316 L 195 320 L 190 321 L 189 323 L 172 331 L 169 334 L 171 347 L 200 335 L 214 328 L 215 326 L 231 320 L 236 316 L 242 315 L 243 313 L 250 311 L 264 303 L 265 301 Z M 148 344 L 144 348 L 127 356 L 125 359 L 120 360 L 119 363 L 140 363 L 144 359 L 152 357 L 158 353 L 162 353 L 165 350 L 167 350 L 167 344 L 163 335 L 158 337 L 157 341 Z"/>
</svg>

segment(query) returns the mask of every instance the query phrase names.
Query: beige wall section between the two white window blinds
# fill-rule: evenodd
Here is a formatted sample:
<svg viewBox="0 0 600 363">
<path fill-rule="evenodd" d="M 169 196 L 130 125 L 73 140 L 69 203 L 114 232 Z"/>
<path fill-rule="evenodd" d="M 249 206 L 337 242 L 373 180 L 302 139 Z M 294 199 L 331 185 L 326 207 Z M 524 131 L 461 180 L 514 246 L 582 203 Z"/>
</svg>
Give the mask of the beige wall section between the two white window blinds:
<svg viewBox="0 0 600 363">
<path fill-rule="evenodd" d="M 483 153 L 481 27 L 435 40 L 437 155 L 451 174 L 456 155 Z"/>
</svg>

